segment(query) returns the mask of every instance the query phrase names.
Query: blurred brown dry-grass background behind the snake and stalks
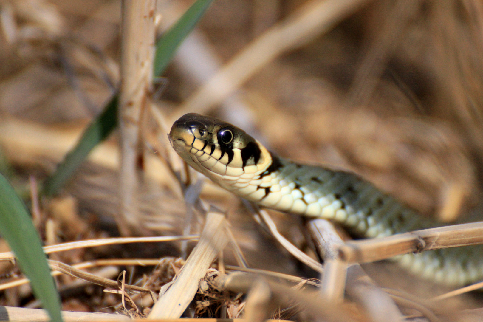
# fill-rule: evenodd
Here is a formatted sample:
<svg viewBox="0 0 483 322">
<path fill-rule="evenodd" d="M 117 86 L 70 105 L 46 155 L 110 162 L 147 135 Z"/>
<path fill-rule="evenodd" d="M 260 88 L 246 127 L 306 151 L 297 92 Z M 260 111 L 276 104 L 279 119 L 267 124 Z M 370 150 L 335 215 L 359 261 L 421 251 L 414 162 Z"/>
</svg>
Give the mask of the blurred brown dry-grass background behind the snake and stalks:
<svg viewBox="0 0 483 322">
<path fill-rule="evenodd" d="M 159 34 L 191 4 L 157 2 Z M 214 1 L 165 73 L 169 85 L 156 108 L 168 119 L 179 113 L 214 71 L 306 2 Z M 10 167 L 11 180 L 29 205 L 29 191 L 55 169 L 119 83 L 120 9 L 120 0 L 0 1 L 0 142 L 8 160 L 2 166 Z M 373 0 L 341 20 L 327 33 L 264 65 L 223 103 L 205 104 L 200 110 L 253 131 L 282 156 L 353 170 L 422 215 L 442 222 L 480 220 L 483 2 Z M 154 120 L 144 126 L 146 175 L 138 192 L 136 220 L 147 234 L 182 235 L 185 214 L 190 212 L 177 182 L 154 153 L 166 144 L 167 130 Z M 34 221 L 46 244 L 117 236 L 116 140 L 117 134 L 103 143 L 60 196 L 41 200 Z M 318 277 L 256 224 L 237 198 L 209 182 L 201 196 L 206 204 L 227 210 L 250 267 Z M 285 237 L 316 258 L 300 219 L 270 214 Z M 202 218 L 197 212 L 194 216 L 191 233 L 198 234 Z M 188 249 L 193 246 L 188 243 Z M 157 292 L 163 282 L 155 277 L 165 282 L 172 278 L 181 267 L 177 258 L 183 248 L 180 242 L 102 246 L 55 253 L 51 259 L 75 264 L 99 258 L 165 257 L 156 270 L 116 266 L 119 269 L 106 276 L 115 278 L 120 269 L 127 269 L 129 284 Z M 226 264 L 237 263 L 231 252 L 224 254 Z M 426 298 L 445 291 L 424 281 L 415 283 L 414 277 L 391 264 L 365 268 L 386 287 Z M 1 269 L 5 281 L 18 273 L 9 264 Z M 242 315 L 244 298 L 213 291 L 210 283 L 218 271 L 210 274 L 188 314 L 220 317 L 224 306 L 228 317 Z M 77 285 L 70 276 L 57 281 L 65 310 L 122 311 L 118 294 Z M 152 305 L 148 296 L 134 301 L 139 316 Z M 39 305 L 27 286 L 4 291 L 0 303 Z M 452 305 L 481 307 L 481 295 Z"/>
</svg>

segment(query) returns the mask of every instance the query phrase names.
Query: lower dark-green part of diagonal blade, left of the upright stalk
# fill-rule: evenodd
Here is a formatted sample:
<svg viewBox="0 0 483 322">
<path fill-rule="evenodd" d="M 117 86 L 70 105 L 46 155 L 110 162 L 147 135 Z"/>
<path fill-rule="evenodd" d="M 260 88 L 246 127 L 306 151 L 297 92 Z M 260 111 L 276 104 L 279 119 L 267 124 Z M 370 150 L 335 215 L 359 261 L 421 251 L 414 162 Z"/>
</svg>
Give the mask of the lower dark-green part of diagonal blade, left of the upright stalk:
<svg viewBox="0 0 483 322">
<path fill-rule="evenodd" d="M 65 156 L 56 172 L 45 181 L 43 187 L 45 195 L 53 196 L 57 194 L 75 170 L 79 168 L 89 152 L 111 134 L 117 124 L 116 114 L 117 96 L 114 96 L 105 110 L 86 128 L 75 148 Z"/>
</svg>

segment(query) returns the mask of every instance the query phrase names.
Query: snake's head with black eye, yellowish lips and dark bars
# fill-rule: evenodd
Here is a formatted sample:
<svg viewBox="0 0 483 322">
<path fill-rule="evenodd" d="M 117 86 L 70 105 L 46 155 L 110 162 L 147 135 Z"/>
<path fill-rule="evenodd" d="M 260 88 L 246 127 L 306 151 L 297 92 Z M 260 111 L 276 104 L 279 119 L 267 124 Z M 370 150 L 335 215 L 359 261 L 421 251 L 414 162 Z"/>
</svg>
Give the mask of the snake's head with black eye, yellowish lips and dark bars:
<svg viewBox="0 0 483 322">
<path fill-rule="evenodd" d="M 265 171 L 271 159 L 270 153 L 243 130 L 210 116 L 183 115 L 174 122 L 169 137 L 174 150 L 191 167 L 220 185 L 222 179 Z"/>
</svg>

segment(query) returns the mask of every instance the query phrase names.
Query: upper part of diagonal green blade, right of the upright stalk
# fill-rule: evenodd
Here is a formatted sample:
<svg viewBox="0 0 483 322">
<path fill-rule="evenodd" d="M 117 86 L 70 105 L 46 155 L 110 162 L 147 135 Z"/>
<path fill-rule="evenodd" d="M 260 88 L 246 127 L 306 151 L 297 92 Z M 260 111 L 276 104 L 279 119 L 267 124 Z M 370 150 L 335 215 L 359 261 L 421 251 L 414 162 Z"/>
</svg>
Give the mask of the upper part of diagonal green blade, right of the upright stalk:
<svg viewBox="0 0 483 322">
<path fill-rule="evenodd" d="M 185 14 L 156 43 L 154 75 L 160 75 L 168 66 L 171 57 L 183 39 L 196 26 L 201 16 L 213 0 L 198 0 L 186 10 Z"/>
</svg>

